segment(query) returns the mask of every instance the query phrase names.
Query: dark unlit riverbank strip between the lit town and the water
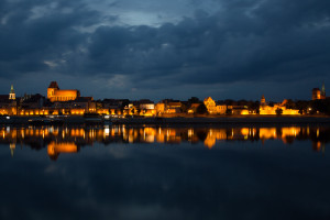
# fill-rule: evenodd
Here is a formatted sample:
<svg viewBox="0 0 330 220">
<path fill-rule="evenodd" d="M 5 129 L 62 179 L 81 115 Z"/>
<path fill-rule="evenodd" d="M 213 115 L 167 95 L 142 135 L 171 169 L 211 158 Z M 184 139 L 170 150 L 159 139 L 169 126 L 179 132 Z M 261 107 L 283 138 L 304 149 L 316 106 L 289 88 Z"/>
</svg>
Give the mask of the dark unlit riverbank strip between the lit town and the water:
<svg viewBox="0 0 330 220">
<path fill-rule="evenodd" d="M 38 121 L 42 117 L 2 117 L 0 124 L 29 124 L 31 121 Z M 48 118 L 47 118 L 48 119 Z M 61 120 L 64 124 L 86 124 L 84 117 L 61 117 L 56 118 L 56 123 Z M 101 117 L 99 118 L 101 119 Z M 109 120 L 99 120 L 98 123 L 106 123 Z M 110 121 L 114 124 L 234 124 L 234 123 L 330 123 L 330 117 L 321 116 L 230 116 L 230 117 L 197 117 L 197 118 L 112 118 Z M 52 121 L 48 122 L 52 124 Z"/>
</svg>

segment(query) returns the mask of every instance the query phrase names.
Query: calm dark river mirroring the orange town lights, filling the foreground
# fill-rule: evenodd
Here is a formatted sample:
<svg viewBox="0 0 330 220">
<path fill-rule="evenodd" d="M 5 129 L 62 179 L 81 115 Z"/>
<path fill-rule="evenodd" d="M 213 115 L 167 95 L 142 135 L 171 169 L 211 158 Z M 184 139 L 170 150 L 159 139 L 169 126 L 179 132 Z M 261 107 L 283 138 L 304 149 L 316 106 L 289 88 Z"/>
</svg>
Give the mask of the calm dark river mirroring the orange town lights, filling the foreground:
<svg viewBox="0 0 330 220">
<path fill-rule="evenodd" d="M 329 127 L 0 128 L 0 219 L 330 219 Z"/>
</svg>

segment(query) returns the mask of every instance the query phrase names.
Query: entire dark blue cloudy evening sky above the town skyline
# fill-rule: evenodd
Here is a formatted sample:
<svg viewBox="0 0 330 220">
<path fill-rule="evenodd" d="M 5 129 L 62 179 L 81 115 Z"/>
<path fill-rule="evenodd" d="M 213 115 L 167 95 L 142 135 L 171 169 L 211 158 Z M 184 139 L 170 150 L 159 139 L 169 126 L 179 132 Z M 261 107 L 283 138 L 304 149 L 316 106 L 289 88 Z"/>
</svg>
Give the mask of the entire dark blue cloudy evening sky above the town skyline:
<svg viewBox="0 0 330 220">
<path fill-rule="evenodd" d="M 1 94 L 280 101 L 329 73 L 329 0 L 0 1 Z"/>
</svg>

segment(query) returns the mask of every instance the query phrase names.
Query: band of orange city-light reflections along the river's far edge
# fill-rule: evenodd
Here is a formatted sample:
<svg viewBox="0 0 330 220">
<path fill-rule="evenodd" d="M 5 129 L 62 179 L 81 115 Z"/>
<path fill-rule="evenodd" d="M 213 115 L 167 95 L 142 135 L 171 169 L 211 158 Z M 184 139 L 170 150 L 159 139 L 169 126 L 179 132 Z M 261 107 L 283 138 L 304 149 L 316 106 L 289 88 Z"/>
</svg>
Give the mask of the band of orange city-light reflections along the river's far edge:
<svg viewBox="0 0 330 220">
<path fill-rule="evenodd" d="M 15 145 L 47 147 L 51 158 L 56 160 L 61 153 L 77 153 L 80 146 L 95 142 L 106 145 L 111 143 L 162 143 L 179 144 L 204 143 L 212 148 L 221 141 L 261 141 L 280 140 L 290 144 L 297 140 L 310 140 L 315 151 L 324 152 L 330 141 L 330 128 L 327 127 L 233 127 L 233 128 L 162 128 L 105 125 L 97 128 L 72 127 L 29 127 L 2 128 L 1 143 L 9 143 L 13 155 Z"/>
</svg>

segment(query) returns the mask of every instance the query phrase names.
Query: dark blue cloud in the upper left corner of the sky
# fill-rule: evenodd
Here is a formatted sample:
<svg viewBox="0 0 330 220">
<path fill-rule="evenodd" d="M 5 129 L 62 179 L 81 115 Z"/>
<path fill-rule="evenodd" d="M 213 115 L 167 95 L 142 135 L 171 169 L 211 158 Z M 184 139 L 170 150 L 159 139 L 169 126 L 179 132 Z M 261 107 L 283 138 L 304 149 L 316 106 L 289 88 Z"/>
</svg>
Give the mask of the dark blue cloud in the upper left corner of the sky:
<svg viewBox="0 0 330 220">
<path fill-rule="evenodd" d="M 82 3 L 75 8 L 64 1 L 50 6 L 51 1 L 7 3 L 0 24 L 0 75 L 20 77 L 29 72 L 50 72 L 46 61 L 63 59 L 66 53 L 77 53 L 86 41 L 86 34 L 76 30 L 98 21 L 98 14 Z M 32 12 L 41 8 L 42 11 Z M 11 10 L 13 9 L 13 10 Z M 42 14 L 47 12 L 46 14 Z M 35 18 L 34 18 L 35 16 Z M 11 74 L 9 74 L 11 73 Z"/>
</svg>

